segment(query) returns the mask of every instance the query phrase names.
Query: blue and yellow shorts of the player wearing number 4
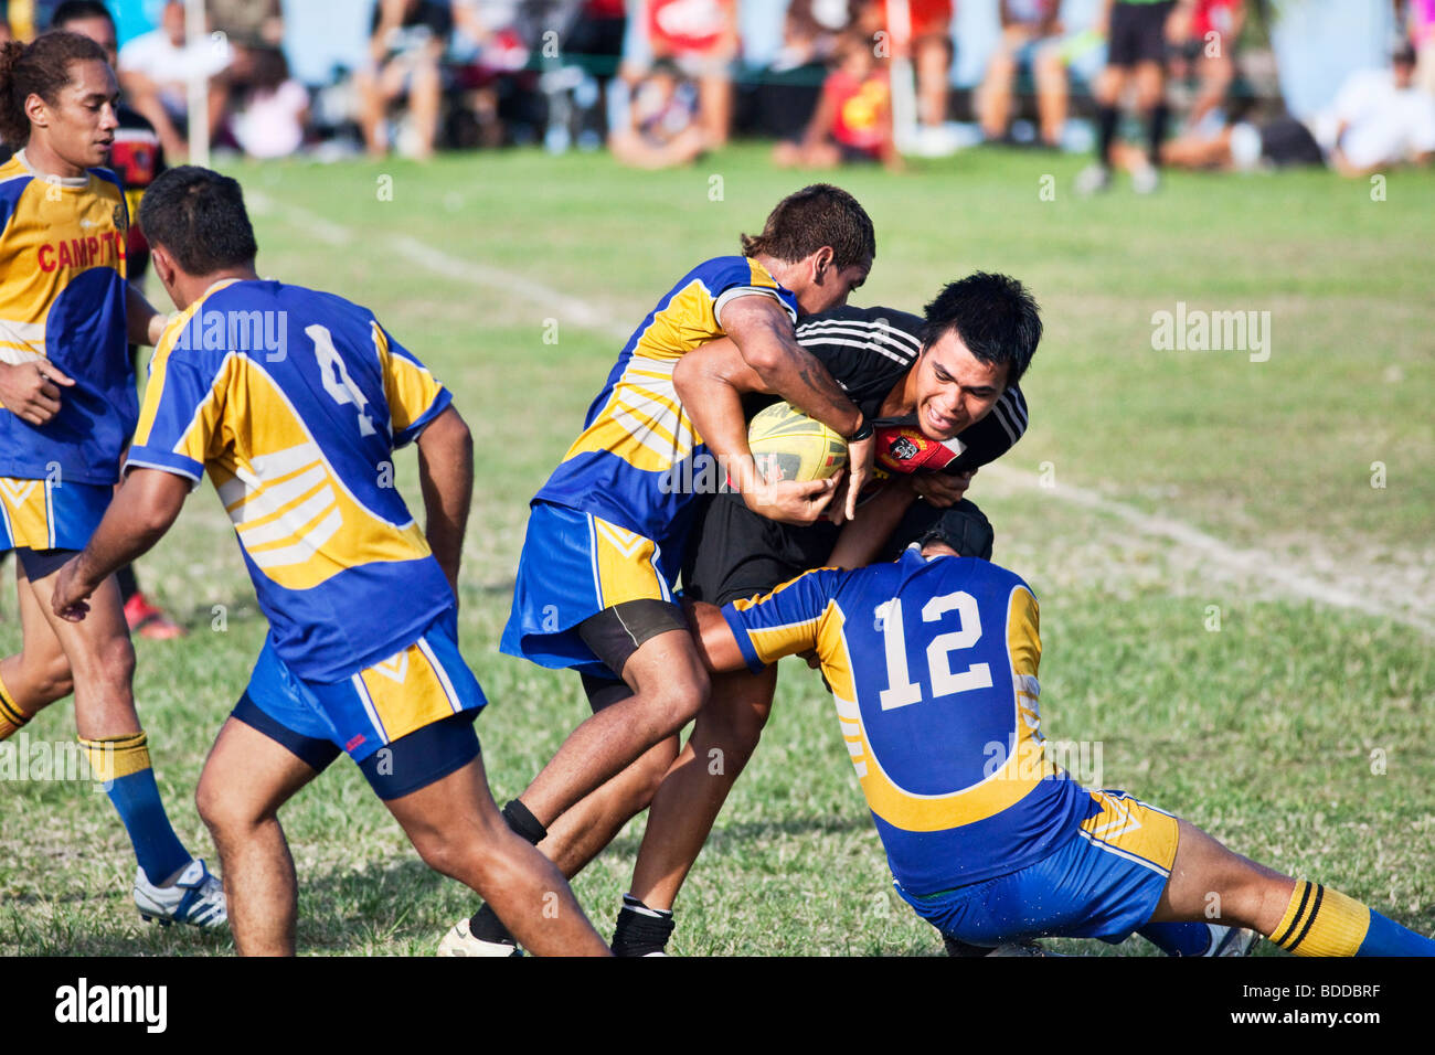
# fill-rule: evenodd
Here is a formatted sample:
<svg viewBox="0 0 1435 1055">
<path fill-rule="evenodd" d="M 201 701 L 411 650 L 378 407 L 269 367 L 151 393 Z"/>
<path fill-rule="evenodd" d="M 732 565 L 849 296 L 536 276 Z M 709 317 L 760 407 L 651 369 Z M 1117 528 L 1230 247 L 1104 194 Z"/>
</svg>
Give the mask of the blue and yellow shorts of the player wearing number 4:
<svg viewBox="0 0 1435 1055">
<path fill-rule="evenodd" d="M 459 655 L 456 613 L 448 609 L 406 649 L 339 682 L 297 677 L 265 640 L 234 716 L 321 769 L 340 751 L 363 765 L 380 748 L 455 715 L 471 723 L 486 703 Z M 443 775 L 405 774 L 419 781 L 415 787 Z"/>
</svg>

